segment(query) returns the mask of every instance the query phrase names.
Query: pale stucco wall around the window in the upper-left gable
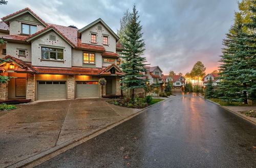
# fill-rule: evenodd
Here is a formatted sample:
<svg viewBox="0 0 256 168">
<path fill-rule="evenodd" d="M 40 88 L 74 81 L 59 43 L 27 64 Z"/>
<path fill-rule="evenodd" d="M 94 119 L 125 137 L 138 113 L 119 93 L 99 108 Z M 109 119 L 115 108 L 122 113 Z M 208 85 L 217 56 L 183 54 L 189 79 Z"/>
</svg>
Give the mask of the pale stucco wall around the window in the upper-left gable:
<svg viewBox="0 0 256 168">
<path fill-rule="evenodd" d="M 25 16 L 25 15 L 28 15 L 28 14 L 24 14 L 23 16 Z M 23 16 L 20 16 L 19 18 L 21 18 Z M 33 17 L 32 15 L 30 15 L 30 16 Z M 19 18 L 9 21 L 10 35 L 21 34 L 22 33 L 22 23 L 25 23 L 25 24 L 28 23 L 26 21 L 20 21 Z M 31 24 L 31 23 L 29 23 L 29 24 Z M 34 22 L 33 24 L 36 25 L 37 32 L 45 28 L 45 26 L 42 25 L 40 22 Z"/>
</svg>

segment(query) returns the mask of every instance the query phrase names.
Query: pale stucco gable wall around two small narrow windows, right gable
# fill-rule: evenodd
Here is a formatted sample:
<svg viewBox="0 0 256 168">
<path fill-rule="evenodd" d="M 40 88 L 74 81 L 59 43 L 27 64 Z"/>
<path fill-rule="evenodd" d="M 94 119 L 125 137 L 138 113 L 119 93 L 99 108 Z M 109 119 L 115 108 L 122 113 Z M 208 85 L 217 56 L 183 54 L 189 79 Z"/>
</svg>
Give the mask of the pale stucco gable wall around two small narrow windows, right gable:
<svg viewBox="0 0 256 168">
<path fill-rule="evenodd" d="M 97 30 L 98 25 L 102 26 L 102 31 Z M 116 39 L 115 37 L 104 27 L 101 23 L 95 24 L 90 29 L 82 32 L 81 41 L 82 43 L 91 43 L 91 32 L 96 33 L 96 44 L 105 47 L 106 51 L 116 52 Z M 109 36 L 109 45 L 103 45 L 103 34 Z"/>
</svg>

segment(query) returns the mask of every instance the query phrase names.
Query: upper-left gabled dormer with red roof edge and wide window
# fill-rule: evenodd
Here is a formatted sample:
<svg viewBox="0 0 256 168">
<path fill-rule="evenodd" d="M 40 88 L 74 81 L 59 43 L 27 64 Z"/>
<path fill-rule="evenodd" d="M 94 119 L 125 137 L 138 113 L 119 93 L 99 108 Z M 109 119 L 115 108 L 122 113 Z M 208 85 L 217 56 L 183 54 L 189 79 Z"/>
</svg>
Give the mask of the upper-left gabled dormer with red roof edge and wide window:
<svg viewBox="0 0 256 168">
<path fill-rule="evenodd" d="M 10 35 L 31 35 L 48 26 L 29 8 L 25 8 L 8 16 L 2 20 L 9 25 Z"/>
</svg>

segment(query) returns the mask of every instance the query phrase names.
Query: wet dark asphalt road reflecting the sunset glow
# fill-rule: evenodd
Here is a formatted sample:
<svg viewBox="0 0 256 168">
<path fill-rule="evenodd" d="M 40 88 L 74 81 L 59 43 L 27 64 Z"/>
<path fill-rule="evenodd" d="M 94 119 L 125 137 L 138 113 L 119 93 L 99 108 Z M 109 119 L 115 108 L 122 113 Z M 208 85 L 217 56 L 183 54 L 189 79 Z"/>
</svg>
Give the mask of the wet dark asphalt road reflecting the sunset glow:
<svg viewBox="0 0 256 168">
<path fill-rule="evenodd" d="M 38 167 L 255 167 L 253 146 L 256 126 L 185 94 Z"/>
</svg>

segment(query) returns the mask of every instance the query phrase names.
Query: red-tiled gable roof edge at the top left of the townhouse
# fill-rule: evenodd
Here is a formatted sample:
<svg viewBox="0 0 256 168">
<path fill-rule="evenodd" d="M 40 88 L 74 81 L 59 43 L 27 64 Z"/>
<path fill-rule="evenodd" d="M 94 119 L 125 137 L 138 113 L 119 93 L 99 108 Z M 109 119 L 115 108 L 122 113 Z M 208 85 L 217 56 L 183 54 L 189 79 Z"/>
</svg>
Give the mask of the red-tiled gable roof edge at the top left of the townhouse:
<svg viewBox="0 0 256 168">
<path fill-rule="evenodd" d="M 39 16 L 37 16 L 31 9 L 29 8 L 25 8 L 25 9 L 22 9 L 22 10 L 19 10 L 15 13 L 12 13 L 10 15 L 7 15 L 5 17 L 2 17 L 1 19 L 6 23 L 6 24 L 9 24 L 9 20 L 13 19 L 13 18 L 16 18 L 20 15 L 23 15 L 25 13 L 30 13 L 32 16 L 34 16 L 42 25 L 44 26 L 48 26 L 48 24 L 42 20 Z"/>
</svg>

